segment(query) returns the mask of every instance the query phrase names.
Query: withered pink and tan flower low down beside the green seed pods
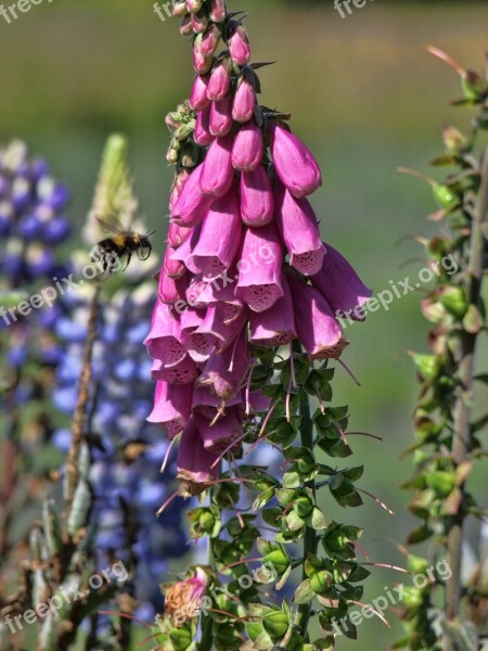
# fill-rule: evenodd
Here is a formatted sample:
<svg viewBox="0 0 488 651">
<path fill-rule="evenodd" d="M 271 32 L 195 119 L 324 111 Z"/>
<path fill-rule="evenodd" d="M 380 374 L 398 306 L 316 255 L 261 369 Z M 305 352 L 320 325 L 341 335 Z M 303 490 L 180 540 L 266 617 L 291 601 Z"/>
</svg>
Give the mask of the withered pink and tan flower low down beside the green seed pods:
<svg viewBox="0 0 488 651">
<path fill-rule="evenodd" d="M 174 618 L 176 628 L 200 615 L 202 599 L 207 591 L 208 584 L 207 574 L 201 567 L 197 567 L 196 574 L 174 584 L 166 592 L 165 613 L 170 617 L 177 615 Z"/>
</svg>

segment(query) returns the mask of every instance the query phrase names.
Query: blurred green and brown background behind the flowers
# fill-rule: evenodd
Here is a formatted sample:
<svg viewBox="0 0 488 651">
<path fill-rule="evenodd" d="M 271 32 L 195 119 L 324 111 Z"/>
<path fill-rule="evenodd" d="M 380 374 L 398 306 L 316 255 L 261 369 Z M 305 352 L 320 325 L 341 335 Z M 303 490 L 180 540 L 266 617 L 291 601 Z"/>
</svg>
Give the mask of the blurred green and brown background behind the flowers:
<svg viewBox="0 0 488 651">
<path fill-rule="evenodd" d="M 249 11 L 253 60 L 277 61 L 261 71 L 261 102 L 292 112 L 293 129 L 322 166 L 324 187 L 312 202 L 325 240 L 375 292 L 416 275 L 423 251 L 399 240 L 434 232 L 425 215 L 435 207 L 428 187 L 396 167 L 428 171 L 440 153 L 442 125 L 465 128 L 470 120 L 468 110 L 448 105 L 460 95 L 458 78 L 425 46 L 480 68 L 488 50 L 486 2 L 375 0 L 344 20 L 332 0 L 230 5 Z M 10 25 L 0 17 L 0 141 L 25 138 L 48 157 L 73 189 L 70 217 L 79 229 L 104 140 L 114 130 L 127 133 L 142 214 L 157 229 L 159 254 L 172 174 L 164 117 L 187 97 L 193 77 L 190 43 L 178 27 L 177 18 L 162 22 L 151 1 L 44 0 Z M 335 401 L 350 405 L 351 430 L 383 437 L 356 437 L 354 460 L 367 467 L 363 487 L 396 515 L 373 501 L 338 515 L 364 526 L 362 545 L 381 562 L 401 563 L 393 540 L 402 541 L 413 523 L 399 488 L 411 460 L 399 457 L 412 442 L 416 393 L 408 350 L 425 349 L 419 299 L 398 299 L 347 330 L 344 359 L 361 387 L 342 370 L 336 374 Z M 401 578 L 377 570 L 364 600 Z M 398 633 L 395 615 L 389 621 L 394 630 L 368 621 L 359 643 L 342 641 L 338 649 L 387 649 Z"/>
</svg>

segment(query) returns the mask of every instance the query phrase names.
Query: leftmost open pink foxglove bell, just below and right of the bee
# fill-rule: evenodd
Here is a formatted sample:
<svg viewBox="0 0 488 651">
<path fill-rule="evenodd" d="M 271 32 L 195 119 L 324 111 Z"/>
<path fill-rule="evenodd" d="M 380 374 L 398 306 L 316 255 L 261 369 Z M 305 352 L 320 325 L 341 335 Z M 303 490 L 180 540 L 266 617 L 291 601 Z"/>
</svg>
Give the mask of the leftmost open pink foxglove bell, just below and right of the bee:
<svg viewBox="0 0 488 651">
<path fill-rule="evenodd" d="M 150 357 L 167 366 L 178 363 L 187 355 L 180 321 L 171 315 L 169 306 L 160 301 L 154 307 L 151 331 L 144 345 Z"/>
</svg>

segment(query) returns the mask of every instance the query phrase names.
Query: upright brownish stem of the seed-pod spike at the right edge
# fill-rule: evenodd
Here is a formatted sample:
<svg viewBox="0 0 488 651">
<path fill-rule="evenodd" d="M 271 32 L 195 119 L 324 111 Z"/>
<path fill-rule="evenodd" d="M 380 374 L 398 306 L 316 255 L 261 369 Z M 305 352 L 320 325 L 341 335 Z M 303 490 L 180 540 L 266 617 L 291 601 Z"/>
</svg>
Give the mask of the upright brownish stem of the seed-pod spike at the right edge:
<svg viewBox="0 0 488 651">
<path fill-rule="evenodd" d="M 488 209 L 488 148 L 481 159 L 481 182 L 477 194 L 475 215 L 472 224 L 471 243 L 468 252 L 468 281 L 467 297 L 470 305 L 479 308 L 481 297 L 481 283 L 484 272 L 485 239 L 484 226 Z M 458 467 L 462 463 L 472 448 L 472 399 L 473 378 L 475 373 L 475 352 L 477 333 L 463 331 L 459 363 L 460 394 L 454 408 L 454 434 L 452 441 L 452 455 Z M 461 486 L 464 492 L 464 485 Z M 448 562 L 452 571 L 451 578 L 447 582 L 446 616 L 454 620 L 459 614 L 461 597 L 461 560 L 463 544 L 463 525 L 465 513 L 461 507 L 453 518 L 450 526 L 447 549 Z M 454 646 L 446 635 L 442 640 L 444 651 L 454 651 Z"/>
</svg>

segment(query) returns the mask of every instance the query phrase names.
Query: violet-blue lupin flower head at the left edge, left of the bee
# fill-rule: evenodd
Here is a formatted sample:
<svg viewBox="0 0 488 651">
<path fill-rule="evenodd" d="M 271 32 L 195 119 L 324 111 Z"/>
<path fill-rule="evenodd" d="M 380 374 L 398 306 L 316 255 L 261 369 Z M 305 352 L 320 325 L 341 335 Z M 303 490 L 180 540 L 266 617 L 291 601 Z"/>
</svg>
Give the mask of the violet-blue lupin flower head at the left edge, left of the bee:
<svg viewBox="0 0 488 651">
<path fill-rule="evenodd" d="M 39 277 L 63 277 L 54 247 L 69 234 L 63 215 L 67 188 L 55 181 L 42 158 L 31 158 L 27 145 L 12 141 L 0 148 L 0 273 L 9 286 Z"/>
</svg>

